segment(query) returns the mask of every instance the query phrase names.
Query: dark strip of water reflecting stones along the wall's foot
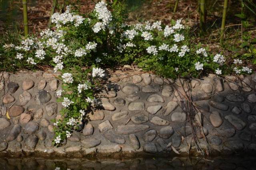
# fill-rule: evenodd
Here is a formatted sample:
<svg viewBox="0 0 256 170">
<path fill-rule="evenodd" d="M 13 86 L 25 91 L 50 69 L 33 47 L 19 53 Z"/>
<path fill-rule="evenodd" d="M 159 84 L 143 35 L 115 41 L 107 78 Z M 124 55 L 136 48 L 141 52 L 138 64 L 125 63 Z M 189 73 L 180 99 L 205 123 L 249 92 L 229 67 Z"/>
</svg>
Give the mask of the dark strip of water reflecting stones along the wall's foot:
<svg viewBox="0 0 256 170">
<path fill-rule="evenodd" d="M 0 158 L 6 170 L 255 170 L 256 157 L 217 158 Z"/>
</svg>

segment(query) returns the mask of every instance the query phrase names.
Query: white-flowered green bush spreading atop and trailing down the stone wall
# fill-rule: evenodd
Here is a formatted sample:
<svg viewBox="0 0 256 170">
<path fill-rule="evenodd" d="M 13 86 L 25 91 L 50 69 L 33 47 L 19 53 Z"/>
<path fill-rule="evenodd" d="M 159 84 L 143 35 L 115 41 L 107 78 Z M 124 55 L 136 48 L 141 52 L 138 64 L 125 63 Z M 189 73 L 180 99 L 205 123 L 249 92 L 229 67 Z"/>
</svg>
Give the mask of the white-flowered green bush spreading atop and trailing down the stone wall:
<svg viewBox="0 0 256 170">
<path fill-rule="evenodd" d="M 4 45 L 4 55 L 19 68 L 52 65 L 59 77 L 62 90 L 58 102 L 64 108 L 62 119 L 55 121 L 55 145 L 69 138 L 78 128 L 91 105 L 97 105 L 93 88 L 104 77 L 102 66 L 138 64 L 161 76 L 200 77 L 207 73 L 250 74 L 246 61 L 225 59 L 219 54 L 208 54 L 209 48 L 191 43 L 188 27 L 183 20 L 163 25 L 161 21 L 127 25 L 124 6 L 114 0 L 111 6 L 103 1 L 90 14 L 78 15 L 67 6 L 62 14 L 51 17 L 54 31 L 43 30 L 21 41 L 21 45 Z"/>
</svg>

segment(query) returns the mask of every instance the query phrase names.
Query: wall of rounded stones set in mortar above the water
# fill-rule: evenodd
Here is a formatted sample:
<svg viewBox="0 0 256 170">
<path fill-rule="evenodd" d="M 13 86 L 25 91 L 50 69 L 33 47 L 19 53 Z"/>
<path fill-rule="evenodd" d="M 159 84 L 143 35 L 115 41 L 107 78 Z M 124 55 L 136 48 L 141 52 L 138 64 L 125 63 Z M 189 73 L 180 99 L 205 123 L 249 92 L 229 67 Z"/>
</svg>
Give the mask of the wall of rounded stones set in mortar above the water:
<svg viewBox="0 0 256 170">
<path fill-rule="evenodd" d="M 50 121 L 61 117 L 60 73 L 1 74 L 2 156 L 197 155 L 196 145 L 212 154 L 256 150 L 256 74 L 174 81 L 118 70 L 98 89 L 102 109 L 88 113 L 62 147 L 52 146 Z"/>
</svg>

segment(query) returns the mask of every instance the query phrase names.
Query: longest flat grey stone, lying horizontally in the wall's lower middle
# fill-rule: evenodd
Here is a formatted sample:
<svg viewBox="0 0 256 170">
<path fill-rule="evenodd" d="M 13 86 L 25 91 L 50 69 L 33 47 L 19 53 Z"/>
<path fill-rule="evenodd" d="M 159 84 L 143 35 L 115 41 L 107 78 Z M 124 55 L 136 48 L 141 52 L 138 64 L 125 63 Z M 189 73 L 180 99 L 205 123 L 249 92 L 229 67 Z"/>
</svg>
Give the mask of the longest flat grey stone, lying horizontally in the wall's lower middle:
<svg viewBox="0 0 256 170">
<path fill-rule="evenodd" d="M 116 133 L 122 135 L 129 135 L 131 133 L 137 133 L 148 129 L 148 125 L 120 125 L 116 129 Z"/>
</svg>

